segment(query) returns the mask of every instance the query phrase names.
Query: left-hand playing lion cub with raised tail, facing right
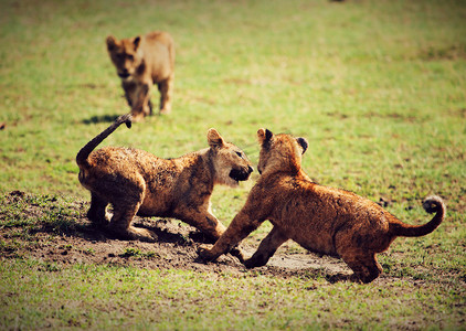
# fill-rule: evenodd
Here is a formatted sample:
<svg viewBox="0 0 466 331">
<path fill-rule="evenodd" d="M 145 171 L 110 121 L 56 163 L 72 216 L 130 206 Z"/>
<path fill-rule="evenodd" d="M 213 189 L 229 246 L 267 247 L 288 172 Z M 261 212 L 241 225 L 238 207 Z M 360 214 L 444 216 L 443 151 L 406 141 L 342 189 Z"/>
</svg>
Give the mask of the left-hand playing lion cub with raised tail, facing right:
<svg viewBox="0 0 466 331">
<path fill-rule="evenodd" d="M 212 215 L 210 197 L 215 184 L 234 188 L 250 178 L 253 168 L 244 152 L 215 129 L 208 132 L 210 148 L 178 159 L 120 147 L 93 151 L 123 122 L 129 127 L 130 115 L 118 117 L 76 156 L 80 182 L 91 191 L 87 217 L 125 239 L 156 239 L 148 229 L 131 226 L 136 214 L 179 218 L 218 239 L 225 227 Z M 107 204 L 114 209 L 112 221 Z"/>
</svg>

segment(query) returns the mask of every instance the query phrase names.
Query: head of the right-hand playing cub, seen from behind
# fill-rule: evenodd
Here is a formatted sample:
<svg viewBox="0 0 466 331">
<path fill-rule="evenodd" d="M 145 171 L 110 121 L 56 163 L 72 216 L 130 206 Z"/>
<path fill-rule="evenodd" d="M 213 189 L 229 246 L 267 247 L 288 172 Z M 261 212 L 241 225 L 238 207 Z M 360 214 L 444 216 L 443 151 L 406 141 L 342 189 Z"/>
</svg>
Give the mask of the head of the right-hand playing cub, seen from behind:
<svg viewBox="0 0 466 331">
<path fill-rule="evenodd" d="M 277 171 L 297 173 L 301 168 L 301 156 L 307 150 L 308 143 L 305 138 L 295 138 L 289 135 L 274 135 L 268 129 L 258 129 L 258 156 L 257 170 L 260 173 L 273 173 Z"/>
</svg>

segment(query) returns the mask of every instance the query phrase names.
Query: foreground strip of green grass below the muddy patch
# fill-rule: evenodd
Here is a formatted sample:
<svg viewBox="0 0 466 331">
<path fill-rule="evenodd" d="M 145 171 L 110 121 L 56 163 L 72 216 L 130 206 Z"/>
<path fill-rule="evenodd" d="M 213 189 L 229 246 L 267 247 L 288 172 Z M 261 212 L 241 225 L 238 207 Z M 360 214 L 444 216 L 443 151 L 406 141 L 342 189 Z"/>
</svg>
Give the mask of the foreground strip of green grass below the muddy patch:
<svg viewBox="0 0 466 331">
<path fill-rule="evenodd" d="M 21 329 L 448 329 L 457 327 L 455 307 L 464 305 L 465 295 L 455 284 L 428 288 L 401 280 L 380 288 L 306 277 L 62 269 L 30 260 L 2 261 L 0 270 L 8 288 L 1 299 L 4 324 Z"/>
</svg>

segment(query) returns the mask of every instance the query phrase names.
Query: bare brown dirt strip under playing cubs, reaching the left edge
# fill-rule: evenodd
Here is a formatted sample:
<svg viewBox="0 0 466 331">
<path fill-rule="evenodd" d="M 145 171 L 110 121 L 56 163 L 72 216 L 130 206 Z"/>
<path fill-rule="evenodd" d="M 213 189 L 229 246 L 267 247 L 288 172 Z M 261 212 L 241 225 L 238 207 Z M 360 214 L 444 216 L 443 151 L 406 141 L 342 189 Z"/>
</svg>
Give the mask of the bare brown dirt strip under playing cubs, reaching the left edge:
<svg viewBox="0 0 466 331">
<path fill-rule="evenodd" d="M 24 199 L 23 192 L 7 194 L 7 204 Z M 29 203 L 23 209 L 27 218 L 41 220 L 50 210 L 57 209 L 53 199 L 47 207 Z M 34 259 L 68 264 L 108 264 L 135 266 L 147 269 L 187 269 L 203 273 L 227 273 L 271 275 L 275 277 L 325 276 L 329 281 L 349 278 L 351 270 L 346 264 L 331 257 L 319 257 L 307 253 L 293 242 L 285 243 L 261 268 L 247 270 L 235 257 L 225 255 L 215 263 L 205 263 L 198 257 L 199 245 L 208 243 L 201 232 L 177 220 L 136 217 L 134 225 L 149 228 L 157 234 L 156 243 L 138 241 L 119 241 L 108 233 L 95 228 L 85 217 L 88 203 L 77 201 L 66 206 L 74 211 L 72 226 L 61 226 L 60 231 L 45 222 L 36 222 L 34 226 L 0 226 L 0 241 L 3 258 L 31 257 Z M 0 214 L 0 221 L 6 215 Z M 66 218 L 70 223 L 70 217 Z M 28 222 L 27 222 L 28 223 Z M 32 222 L 34 223 L 34 222 Z M 1 225 L 1 222 L 0 222 Z M 28 235 L 24 235 L 28 232 Z M 258 239 L 246 238 L 241 247 L 246 256 L 251 256 L 258 246 Z M 13 244 L 14 243 L 14 244 Z"/>
</svg>

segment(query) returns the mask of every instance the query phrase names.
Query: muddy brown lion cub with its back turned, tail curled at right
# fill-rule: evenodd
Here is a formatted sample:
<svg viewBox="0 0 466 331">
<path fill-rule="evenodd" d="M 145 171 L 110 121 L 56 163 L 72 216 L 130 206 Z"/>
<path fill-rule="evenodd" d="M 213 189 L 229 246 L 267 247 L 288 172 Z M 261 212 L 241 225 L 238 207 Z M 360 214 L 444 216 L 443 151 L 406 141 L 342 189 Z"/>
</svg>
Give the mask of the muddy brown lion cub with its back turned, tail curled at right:
<svg viewBox="0 0 466 331">
<path fill-rule="evenodd" d="M 215 245 L 198 253 L 214 260 L 245 238 L 262 222 L 274 225 L 258 249 L 244 264 L 247 268 L 265 265 L 287 239 L 304 248 L 341 257 L 363 282 L 375 279 L 382 267 L 375 254 L 384 252 L 398 236 L 416 237 L 433 232 L 443 221 L 441 197 L 427 197 L 423 206 L 436 213 L 425 225 L 407 225 L 378 204 L 343 190 L 314 183 L 301 169 L 307 149 L 304 138 L 274 136 L 257 131 L 262 173 L 247 201 Z"/>
</svg>

